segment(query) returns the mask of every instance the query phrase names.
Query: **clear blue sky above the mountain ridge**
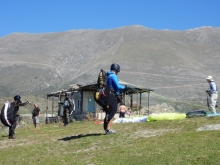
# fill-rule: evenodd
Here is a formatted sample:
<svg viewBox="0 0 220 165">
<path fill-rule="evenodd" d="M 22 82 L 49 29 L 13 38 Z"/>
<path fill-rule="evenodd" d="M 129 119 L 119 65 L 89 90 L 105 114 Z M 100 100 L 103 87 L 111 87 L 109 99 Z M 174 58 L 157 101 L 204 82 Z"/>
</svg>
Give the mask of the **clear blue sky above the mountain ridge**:
<svg viewBox="0 0 220 165">
<path fill-rule="evenodd" d="M 220 27 L 220 0 L 0 0 L 0 37 L 15 33 Z"/>
</svg>

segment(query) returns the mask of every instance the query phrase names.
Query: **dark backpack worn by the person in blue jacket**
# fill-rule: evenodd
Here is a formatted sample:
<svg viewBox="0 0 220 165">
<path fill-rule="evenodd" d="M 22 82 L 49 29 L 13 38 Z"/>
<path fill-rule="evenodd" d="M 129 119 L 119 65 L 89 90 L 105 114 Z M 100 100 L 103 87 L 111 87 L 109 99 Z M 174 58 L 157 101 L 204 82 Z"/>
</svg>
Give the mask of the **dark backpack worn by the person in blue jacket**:
<svg viewBox="0 0 220 165">
<path fill-rule="evenodd" d="M 107 107 L 107 93 L 105 92 L 108 88 L 107 85 L 108 76 L 107 73 L 101 69 L 98 75 L 96 90 L 94 93 L 94 100 L 98 105 L 103 108 L 103 111 L 106 110 Z"/>
</svg>

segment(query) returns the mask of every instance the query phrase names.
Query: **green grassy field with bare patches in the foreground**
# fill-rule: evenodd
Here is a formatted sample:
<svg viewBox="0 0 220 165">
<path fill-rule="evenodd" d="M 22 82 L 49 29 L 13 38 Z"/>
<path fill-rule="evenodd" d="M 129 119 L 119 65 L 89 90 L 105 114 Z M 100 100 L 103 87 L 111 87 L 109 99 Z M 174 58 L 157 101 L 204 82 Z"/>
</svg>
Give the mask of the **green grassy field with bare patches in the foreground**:
<svg viewBox="0 0 220 165">
<path fill-rule="evenodd" d="M 94 121 L 16 129 L 16 139 L 0 137 L 4 165 L 219 165 L 220 130 L 196 131 L 219 124 L 220 117 L 113 124 L 105 135 Z M 7 135 L 7 132 L 1 132 Z"/>
</svg>

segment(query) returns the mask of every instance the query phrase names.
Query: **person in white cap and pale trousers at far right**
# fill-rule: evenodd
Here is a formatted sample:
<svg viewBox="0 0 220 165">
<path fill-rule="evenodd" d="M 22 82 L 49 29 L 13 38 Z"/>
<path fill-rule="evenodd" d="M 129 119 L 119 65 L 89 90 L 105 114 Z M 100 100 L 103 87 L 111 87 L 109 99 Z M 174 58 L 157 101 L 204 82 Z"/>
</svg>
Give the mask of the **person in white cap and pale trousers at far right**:
<svg viewBox="0 0 220 165">
<path fill-rule="evenodd" d="M 208 76 L 206 78 L 207 82 L 209 83 L 209 90 L 206 90 L 208 94 L 208 108 L 214 114 L 216 114 L 216 102 L 218 99 L 218 88 L 212 76 Z"/>
</svg>

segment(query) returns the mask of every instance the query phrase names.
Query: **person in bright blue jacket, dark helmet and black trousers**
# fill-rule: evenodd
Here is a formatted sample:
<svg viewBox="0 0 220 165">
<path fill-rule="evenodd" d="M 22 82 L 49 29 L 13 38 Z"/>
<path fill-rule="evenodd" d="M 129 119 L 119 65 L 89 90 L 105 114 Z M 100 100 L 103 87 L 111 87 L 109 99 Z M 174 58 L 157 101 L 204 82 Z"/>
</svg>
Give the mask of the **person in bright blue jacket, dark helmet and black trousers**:
<svg viewBox="0 0 220 165">
<path fill-rule="evenodd" d="M 116 133 L 116 131 L 111 129 L 112 119 L 117 112 L 118 103 L 120 102 L 120 100 L 118 99 L 118 95 L 120 94 L 121 90 L 127 89 L 126 86 L 121 85 L 119 83 L 117 76 L 119 72 L 120 72 L 120 66 L 115 63 L 111 65 L 110 71 L 107 72 L 107 76 L 108 76 L 107 86 L 109 90 L 107 102 L 109 105 L 109 109 L 106 110 L 106 116 L 104 119 L 104 130 L 106 131 L 106 134 Z"/>
</svg>

